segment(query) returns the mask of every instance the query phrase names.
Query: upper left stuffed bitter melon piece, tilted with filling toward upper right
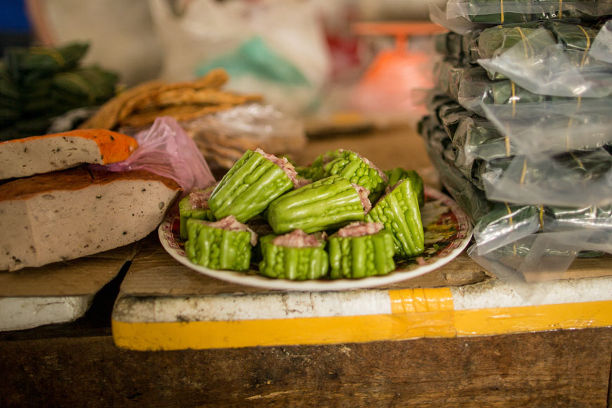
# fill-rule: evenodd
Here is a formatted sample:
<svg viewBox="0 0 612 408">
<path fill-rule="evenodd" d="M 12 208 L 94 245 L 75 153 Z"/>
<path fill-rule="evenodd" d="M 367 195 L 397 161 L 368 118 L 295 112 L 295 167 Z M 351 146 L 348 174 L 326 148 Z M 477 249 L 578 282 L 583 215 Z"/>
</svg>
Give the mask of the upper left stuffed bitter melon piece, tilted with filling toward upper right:
<svg viewBox="0 0 612 408">
<path fill-rule="evenodd" d="M 293 189 L 293 165 L 257 148 L 246 151 L 212 192 L 208 206 L 217 219 L 234 215 L 239 222 L 263 212 L 274 198 Z"/>
</svg>

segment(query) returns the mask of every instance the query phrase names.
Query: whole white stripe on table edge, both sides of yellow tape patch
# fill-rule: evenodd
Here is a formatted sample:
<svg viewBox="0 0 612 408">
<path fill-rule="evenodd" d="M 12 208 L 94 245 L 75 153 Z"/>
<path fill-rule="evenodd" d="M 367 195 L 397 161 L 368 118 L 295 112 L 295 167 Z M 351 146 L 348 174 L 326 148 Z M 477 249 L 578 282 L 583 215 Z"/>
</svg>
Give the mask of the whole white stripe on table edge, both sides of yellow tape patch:
<svg viewBox="0 0 612 408">
<path fill-rule="evenodd" d="M 553 281 L 516 291 L 500 281 L 450 288 L 454 310 L 523 307 L 612 300 L 612 278 Z M 513 289 L 514 288 L 514 289 Z M 519 294 L 520 293 L 520 294 Z M 125 323 L 170 321 L 232 321 L 390 314 L 387 290 L 329 292 L 267 292 L 208 296 L 124 296 L 113 319 Z"/>
</svg>

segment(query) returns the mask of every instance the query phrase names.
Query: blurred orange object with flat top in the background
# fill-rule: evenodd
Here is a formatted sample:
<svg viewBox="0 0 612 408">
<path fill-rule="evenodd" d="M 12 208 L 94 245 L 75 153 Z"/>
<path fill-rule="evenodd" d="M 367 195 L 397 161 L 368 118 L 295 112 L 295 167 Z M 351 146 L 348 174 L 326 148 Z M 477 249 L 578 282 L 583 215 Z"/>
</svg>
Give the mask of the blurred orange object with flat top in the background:
<svg viewBox="0 0 612 408">
<path fill-rule="evenodd" d="M 446 30 L 425 22 L 358 23 L 359 35 L 395 37 L 395 49 L 383 50 L 374 58 L 355 87 L 352 108 L 362 113 L 421 116 L 426 113 L 419 91 L 431 89 L 431 53 L 408 48 L 409 37 L 432 36 Z M 433 50 L 433 46 L 431 47 Z"/>
</svg>

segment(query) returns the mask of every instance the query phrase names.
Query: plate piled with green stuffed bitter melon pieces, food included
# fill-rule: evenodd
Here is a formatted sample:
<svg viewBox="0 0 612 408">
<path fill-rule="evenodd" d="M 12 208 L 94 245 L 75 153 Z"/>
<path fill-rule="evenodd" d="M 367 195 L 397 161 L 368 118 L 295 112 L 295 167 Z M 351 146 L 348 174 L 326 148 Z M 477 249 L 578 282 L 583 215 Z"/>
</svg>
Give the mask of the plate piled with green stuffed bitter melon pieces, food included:
<svg viewBox="0 0 612 408">
<path fill-rule="evenodd" d="M 453 260 L 472 235 L 459 205 L 413 170 L 379 170 L 343 149 L 308 167 L 247 151 L 215 186 L 181 199 L 158 232 L 196 272 L 286 291 L 411 279 Z"/>
</svg>

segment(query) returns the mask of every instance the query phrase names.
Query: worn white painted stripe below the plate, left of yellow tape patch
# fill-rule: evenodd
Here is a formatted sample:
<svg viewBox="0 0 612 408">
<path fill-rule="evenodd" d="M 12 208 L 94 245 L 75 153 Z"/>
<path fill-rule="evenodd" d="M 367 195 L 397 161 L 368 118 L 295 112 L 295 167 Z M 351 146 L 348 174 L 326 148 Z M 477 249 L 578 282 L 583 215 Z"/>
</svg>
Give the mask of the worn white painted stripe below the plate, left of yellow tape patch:
<svg viewBox="0 0 612 408">
<path fill-rule="evenodd" d="M 390 314 L 388 291 L 270 292 L 193 297 L 123 297 L 113 319 L 139 321 L 231 321 Z"/>
</svg>

